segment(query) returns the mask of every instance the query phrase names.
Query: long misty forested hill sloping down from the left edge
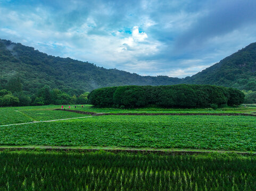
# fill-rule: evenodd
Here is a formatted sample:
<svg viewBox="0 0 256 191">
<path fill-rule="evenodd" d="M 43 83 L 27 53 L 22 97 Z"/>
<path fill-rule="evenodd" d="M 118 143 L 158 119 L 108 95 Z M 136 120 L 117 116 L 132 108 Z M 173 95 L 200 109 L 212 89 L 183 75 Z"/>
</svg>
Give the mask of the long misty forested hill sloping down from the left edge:
<svg viewBox="0 0 256 191">
<path fill-rule="evenodd" d="M 6 86 L 10 79 L 19 76 L 26 94 L 36 93 L 44 85 L 68 93 L 73 89 L 90 91 L 105 86 L 168 85 L 182 81 L 168 76 L 140 76 L 105 69 L 71 58 L 49 56 L 32 47 L 1 39 L 0 68 L 0 89 L 9 89 Z"/>
</svg>

